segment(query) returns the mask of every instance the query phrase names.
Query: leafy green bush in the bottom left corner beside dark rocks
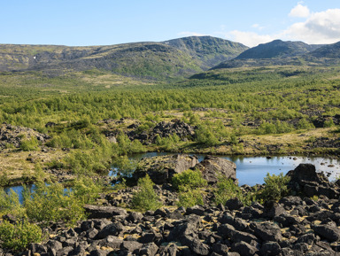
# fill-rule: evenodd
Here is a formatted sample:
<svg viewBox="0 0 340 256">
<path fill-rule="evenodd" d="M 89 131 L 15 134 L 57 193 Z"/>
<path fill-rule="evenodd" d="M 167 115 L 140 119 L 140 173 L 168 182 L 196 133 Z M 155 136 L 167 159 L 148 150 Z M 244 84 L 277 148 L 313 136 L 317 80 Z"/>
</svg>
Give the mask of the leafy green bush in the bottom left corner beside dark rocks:
<svg viewBox="0 0 340 256">
<path fill-rule="evenodd" d="M 8 221 L 0 223 L 0 244 L 14 252 L 23 251 L 28 244 L 42 241 L 42 229 L 28 221 L 12 224 Z"/>
</svg>

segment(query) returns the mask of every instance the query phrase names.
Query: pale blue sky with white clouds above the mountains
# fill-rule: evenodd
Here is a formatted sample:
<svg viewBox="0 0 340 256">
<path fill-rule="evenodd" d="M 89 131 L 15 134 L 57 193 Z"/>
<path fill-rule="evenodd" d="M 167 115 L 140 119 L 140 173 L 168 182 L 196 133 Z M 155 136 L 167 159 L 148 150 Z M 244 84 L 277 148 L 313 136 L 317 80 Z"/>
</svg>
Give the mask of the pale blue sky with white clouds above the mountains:
<svg viewBox="0 0 340 256">
<path fill-rule="evenodd" d="M 68 46 L 211 35 L 249 47 L 340 41 L 339 0 L 0 0 L 0 43 Z"/>
</svg>

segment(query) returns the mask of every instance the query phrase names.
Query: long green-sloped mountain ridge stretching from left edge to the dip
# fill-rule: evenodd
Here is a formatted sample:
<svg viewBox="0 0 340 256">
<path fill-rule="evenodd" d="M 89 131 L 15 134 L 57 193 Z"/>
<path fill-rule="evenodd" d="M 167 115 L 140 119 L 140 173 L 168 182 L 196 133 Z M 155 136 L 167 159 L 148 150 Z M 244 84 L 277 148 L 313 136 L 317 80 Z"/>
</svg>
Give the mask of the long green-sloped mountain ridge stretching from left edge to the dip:
<svg viewBox="0 0 340 256">
<path fill-rule="evenodd" d="M 0 71 L 42 71 L 59 75 L 98 69 L 167 80 L 202 72 L 247 49 L 241 43 L 211 36 L 86 47 L 0 44 Z"/>
</svg>

